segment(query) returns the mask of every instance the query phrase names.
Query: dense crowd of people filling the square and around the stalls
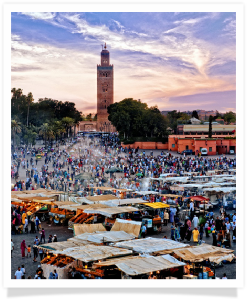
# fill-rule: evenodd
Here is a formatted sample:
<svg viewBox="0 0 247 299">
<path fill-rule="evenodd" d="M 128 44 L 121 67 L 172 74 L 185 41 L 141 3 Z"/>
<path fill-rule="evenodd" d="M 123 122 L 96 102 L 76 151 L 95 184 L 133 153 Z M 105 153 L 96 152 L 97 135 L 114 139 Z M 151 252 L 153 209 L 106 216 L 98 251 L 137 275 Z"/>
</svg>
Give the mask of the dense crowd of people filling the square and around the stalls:
<svg viewBox="0 0 247 299">
<path fill-rule="evenodd" d="M 92 187 L 109 186 L 135 191 L 158 191 L 159 194 L 144 195 L 142 198 L 149 202 L 163 202 L 165 198 L 161 191 L 169 189 L 169 185 L 166 183 L 155 184 L 147 178 L 159 177 L 166 173 L 179 174 L 179 176 L 184 176 L 185 173 L 205 175 L 207 171 L 216 169 L 229 170 L 230 173 L 231 169 L 236 167 L 235 157 L 227 158 L 223 155 L 217 158 L 185 155 L 177 157 L 163 151 L 154 156 L 152 151 L 146 154 L 145 150 L 126 148 L 111 142 L 111 137 L 109 138 L 108 142 L 96 138 L 81 138 L 74 140 L 73 143 L 66 143 L 62 148 L 58 146 L 50 151 L 45 151 L 43 148 L 19 148 L 19 150 L 13 151 L 11 177 L 12 182 L 15 181 L 15 183 L 12 184 L 12 191 L 45 188 L 64 192 L 71 191 L 86 196 L 102 193 L 100 188 Z M 40 152 L 44 155 L 41 160 L 37 158 L 37 154 Z M 112 167 L 119 169 L 120 175 L 108 174 L 108 170 Z M 26 179 L 19 179 L 20 168 L 22 171 L 25 170 Z M 78 174 L 87 174 L 89 177 L 81 180 L 77 178 Z M 175 192 L 171 191 L 171 193 Z M 190 195 L 188 190 L 178 193 L 183 196 Z M 175 199 L 175 203 L 178 204 L 178 207 L 181 205 L 180 197 Z M 212 236 L 212 245 L 221 246 L 223 244 L 231 247 L 231 241 L 236 239 L 236 213 L 227 214 L 227 210 L 222 207 L 220 216 L 216 216 L 211 211 L 202 220 L 194 215 L 193 209 L 190 208 L 189 217 L 182 221 L 179 217 L 178 207 L 157 211 L 164 226 L 171 223 L 170 238 L 172 240 L 190 242 L 192 238 L 193 242 L 201 243 L 204 236 L 205 238 Z M 40 233 L 40 239 L 36 236 L 32 244 L 33 262 L 37 262 L 38 256 L 42 260 L 44 252 L 36 247 L 42 242 L 45 243 L 45 231 L 41 227 L 40 219 L 37 216 L 35 218 L 28 217 L 25 207 L 21 208 L 20 206 L 12 207 L 11 214 L 12 234 L 18 234 L 20 231 Z M 147 227 L 143 225 L 141 236 L 144 238 L 146 234 Z M 56 241 L 56 235 L 49 235 L 48 243 Z M 13 250 L 14 245 L 12 245 L 11 253 Z M 22 258 L 32 255 L 31 246 L 27 246 L 25 240 L 21 243 L 21 255 Z M 23 268 L 20 267 L 16 271 L 16 279 L 23 278 L 25 274 Z M 34 278 L 42 278 L 40 269 L 40 267 L 37 269 Z M 73 271 L 71 275 L 74 275 Z M 56 273 L 51 273 L 49 278 L 58 277 Z"/>
</svg>

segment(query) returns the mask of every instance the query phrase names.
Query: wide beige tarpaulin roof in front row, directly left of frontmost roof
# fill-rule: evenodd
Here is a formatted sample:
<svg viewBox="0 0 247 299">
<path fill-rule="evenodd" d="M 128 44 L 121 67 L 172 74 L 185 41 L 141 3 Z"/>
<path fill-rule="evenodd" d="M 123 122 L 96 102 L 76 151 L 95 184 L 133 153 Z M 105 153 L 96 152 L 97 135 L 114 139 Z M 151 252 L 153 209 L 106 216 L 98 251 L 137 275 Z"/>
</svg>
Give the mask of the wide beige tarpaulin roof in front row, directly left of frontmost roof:
<svg viewBox="0 0 247 299">
<path fill-rule="evenodd" d="M 123 256 L 132 254 L 131 250 L 116 248 L 111 246 L 86 245 L 73 248 L 67 248 L 63 251 L 55 251 L 54 254 L 64 254 L 83 262 L 98 261 L 101 259 L 112 258 L 114 256 Z"/>
</svg>

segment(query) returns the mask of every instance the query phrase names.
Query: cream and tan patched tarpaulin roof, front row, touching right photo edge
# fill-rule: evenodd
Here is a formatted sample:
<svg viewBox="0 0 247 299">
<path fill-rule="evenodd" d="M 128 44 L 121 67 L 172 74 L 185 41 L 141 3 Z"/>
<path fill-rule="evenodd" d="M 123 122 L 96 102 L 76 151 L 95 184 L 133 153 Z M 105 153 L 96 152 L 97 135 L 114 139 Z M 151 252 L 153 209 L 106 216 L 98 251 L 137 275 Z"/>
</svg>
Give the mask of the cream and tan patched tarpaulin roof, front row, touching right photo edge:
<svg viewBox="0 0 247 299">
<path fill-rule="evenodd" d="M 209 259 L 211 262 L 218 264 L 223 260 L 232 261 L 235 258 L 233 251 L 231 249 L 202 244 L 200 246 L 176 249 L 173 252 L 176 257 L 185 261 L 202 262 Z"/>
</svg>

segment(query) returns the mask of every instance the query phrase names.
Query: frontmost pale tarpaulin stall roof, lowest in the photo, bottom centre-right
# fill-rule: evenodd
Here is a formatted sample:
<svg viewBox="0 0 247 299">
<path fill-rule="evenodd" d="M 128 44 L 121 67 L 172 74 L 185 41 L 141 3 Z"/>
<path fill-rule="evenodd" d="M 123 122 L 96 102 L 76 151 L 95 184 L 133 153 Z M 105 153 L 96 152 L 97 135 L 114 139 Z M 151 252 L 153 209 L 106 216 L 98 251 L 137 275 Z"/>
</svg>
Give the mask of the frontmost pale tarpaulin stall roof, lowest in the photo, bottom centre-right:
<svg viewBox="0 0 247 299">
<path fill-rule="evenodd" d="M 181 267 L 185 265 L 185 263 L 178 261 L 168 254 L 161 256 L 141 257 L 137 259 L 126 259 L 125 261 L 116 262 L 116 266 L 121 271 L 131 276 Z"/>
</svg>

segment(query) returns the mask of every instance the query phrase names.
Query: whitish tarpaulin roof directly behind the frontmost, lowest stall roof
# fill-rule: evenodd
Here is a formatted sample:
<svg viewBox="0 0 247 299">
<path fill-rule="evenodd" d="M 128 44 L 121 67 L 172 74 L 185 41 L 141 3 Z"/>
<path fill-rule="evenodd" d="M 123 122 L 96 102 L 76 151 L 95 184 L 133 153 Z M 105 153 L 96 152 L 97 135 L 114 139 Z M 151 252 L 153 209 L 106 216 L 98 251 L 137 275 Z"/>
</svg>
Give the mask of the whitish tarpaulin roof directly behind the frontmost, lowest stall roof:
<svg viewBox="0 0 247 299">
<path fill-rule="evenodd" d="M 187 247 L 187 244 L 170 239 L 145 238 L 126 242 L 118 242 L 114 246 L 131 249 L 138 253 L 151 253 L 162 250 Z"/>
</svg>

